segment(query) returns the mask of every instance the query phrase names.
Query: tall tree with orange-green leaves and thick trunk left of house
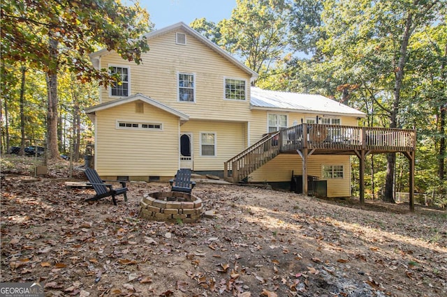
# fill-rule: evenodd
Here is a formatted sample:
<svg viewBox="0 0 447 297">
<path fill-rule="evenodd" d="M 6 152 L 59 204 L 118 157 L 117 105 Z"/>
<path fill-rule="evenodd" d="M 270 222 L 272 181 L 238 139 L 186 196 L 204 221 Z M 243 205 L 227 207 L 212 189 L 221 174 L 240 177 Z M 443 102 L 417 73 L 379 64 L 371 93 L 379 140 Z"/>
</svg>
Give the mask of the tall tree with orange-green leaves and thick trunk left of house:
<svg viewBox="0 0 447 297">
<path fill-rule="evenodd" d="M 27 61 L 47 73 L 47 141 L 53 158 L 57 145 L 57 73 L 61 63 L 81 82 L 111 82 L 107 69 L 95 70 L 87 54 L 98 46 L 115 50 L 140 63 L 147 52 L 140 38 L 151 28 L 149 15 L 138 2 L 124 6 L 115 0 L 6 0 L 1 4 L 1 59 Z"/>
</svg>

